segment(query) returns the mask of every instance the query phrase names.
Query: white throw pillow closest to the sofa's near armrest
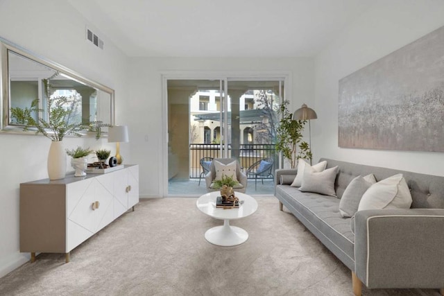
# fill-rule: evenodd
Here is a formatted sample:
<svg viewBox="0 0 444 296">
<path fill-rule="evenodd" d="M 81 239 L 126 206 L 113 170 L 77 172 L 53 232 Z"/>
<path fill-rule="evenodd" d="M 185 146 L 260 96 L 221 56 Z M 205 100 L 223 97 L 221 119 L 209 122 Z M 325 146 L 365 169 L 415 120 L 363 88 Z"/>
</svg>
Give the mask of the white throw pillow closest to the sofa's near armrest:
<svg viewBox="0 0 444 296">
<path fill-rule="evenodd" d="M 365 209 L 409 209 L 411 194 L 402 174 L 381 180 L 367 189 L 359 202 L 358 211 Z"/>
</svg>

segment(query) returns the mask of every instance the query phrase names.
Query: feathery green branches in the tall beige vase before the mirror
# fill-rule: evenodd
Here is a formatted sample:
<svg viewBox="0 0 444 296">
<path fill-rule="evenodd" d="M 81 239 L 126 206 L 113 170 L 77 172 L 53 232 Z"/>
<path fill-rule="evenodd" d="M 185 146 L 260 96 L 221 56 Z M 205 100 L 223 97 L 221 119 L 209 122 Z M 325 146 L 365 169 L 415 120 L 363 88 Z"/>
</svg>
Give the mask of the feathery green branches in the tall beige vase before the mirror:
<svg viewBox="0 0 444 296">
<path fill-rule="evenodd" d="M 52 77 L 58 75 L 55 73 Z M 39 99 L 36 98 L 31 102 L 31 107 L 24 109 L 20 107 L 12 107 L 10 109 L 11 119 L 19 125 L 24 125 L 23 130 L 29 130 L 30 127 L 36 128 L 36 134 L 43 134 L 45 137 L 51 139 L 51 141 L 62 141 L 67 135 L 76 137 L 82 137 L 81 132 L 91 131 L 96 132 L 96 139 L 101 136 L 101 123 L 92 122 L 89 125 L 83 125 L 81 123 L 69 123 L 71 114 L 76 111 L 76 103 L 70 102 L 66 96 L 53 96 L 51 98 L 51 85 L 48 79 L 43 79 L 44 94 L 46 96 L 46 109 L 48 112 L 48 119 L 44 120 L 41 117 L 35 119 L 33 116 L 38 116 L 39 112 L 44 112 L 43 109 L 38 107 Z"/>
</svg>

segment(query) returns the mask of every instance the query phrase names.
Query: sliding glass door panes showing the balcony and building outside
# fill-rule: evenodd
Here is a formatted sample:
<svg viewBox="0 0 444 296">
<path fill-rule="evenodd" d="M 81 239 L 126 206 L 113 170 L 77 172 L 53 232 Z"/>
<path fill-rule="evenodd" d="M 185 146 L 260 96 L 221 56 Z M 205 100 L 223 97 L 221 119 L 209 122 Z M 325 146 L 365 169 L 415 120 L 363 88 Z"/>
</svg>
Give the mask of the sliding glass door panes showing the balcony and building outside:
<svg viewBox="0 0 444 296">
<path fill-rule="evenodd" d="M 237 159 L 250 194 L 273 193 L 275 128 L 284 79 L 167 80 L 169 195 L 206 192 L 201 162 Z M 261 160 L 273 162 L 257 174 Z"/>
</svg>

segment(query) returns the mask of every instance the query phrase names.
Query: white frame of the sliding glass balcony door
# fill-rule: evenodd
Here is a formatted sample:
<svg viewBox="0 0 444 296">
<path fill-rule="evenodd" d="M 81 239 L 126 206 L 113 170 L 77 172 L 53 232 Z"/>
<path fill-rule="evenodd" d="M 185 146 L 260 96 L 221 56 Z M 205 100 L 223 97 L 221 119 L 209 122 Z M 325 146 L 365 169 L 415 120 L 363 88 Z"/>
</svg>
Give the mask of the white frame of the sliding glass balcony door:
<svg viewBox="0 0 444 296">
<path fill-rule="evenodd" d="M 162 141 L 160 143 L 159 157 L 159 173 L 160 184 L 159 193 L 161 197 L 168 197 L 168 80 L 219 80 L 220 90 L 223 88 L 223 96 L 221 95 L 221 139 L 225 139 L 225 132 L 228 131 L 228 82 L 235 80 L 244 81 L 261 81 L 261 80 L 283 80 L 284 94 L 283 97 L 287 101 L 291 100 L 293 81 L 291 71 L 228 71 L 228 72 L 208 72 L 208 71 L 164 71 L 161 73 L 162 78 Z M 223 103 L 222 103 L 223 102 Z M 224 114 L 222 110 L 225 110 Z M 223 118 L 222 118 L 223 116 Z M 221 155 L 228 157 L 228 141 L 223 141 L 221 145 Z M 282 164 L 280 162 L 279 167 Z M 175 195 L 171 195 L 175 196 Z M 184 195 L 187 196 L 187 195 Z"/>
</svg>

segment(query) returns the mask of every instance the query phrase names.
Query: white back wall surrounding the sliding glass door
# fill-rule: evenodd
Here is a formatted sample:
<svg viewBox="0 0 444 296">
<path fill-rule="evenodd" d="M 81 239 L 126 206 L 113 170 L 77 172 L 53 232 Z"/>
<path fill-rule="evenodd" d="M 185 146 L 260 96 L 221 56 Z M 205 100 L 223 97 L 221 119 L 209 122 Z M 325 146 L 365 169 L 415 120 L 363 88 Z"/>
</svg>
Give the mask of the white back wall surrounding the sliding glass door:
<svg viewBox="0 0 444 296">
<path fill-rule="evenodd" d="M 293 106 L 314 98 L 314 64 L 311 58 L 133 58 L 130 62 L 129 108 L 123 117 L 139 128 L 131 135 L 130 154 L 140 166 L 142 197 L 165 196 L 163 153 L 167 152 L 162 124 L 166 122 L 162 102 L 162 73 L 255 73 L 289 71 Z M 203 74 L 204 75 L 204 74 Z M 205 76 L 203 76 L 205 77 Z M 117 106 L 119 107 L 119 106 Z M 297 107 L 291 107 L 296 110 Z"/>
</svg>

